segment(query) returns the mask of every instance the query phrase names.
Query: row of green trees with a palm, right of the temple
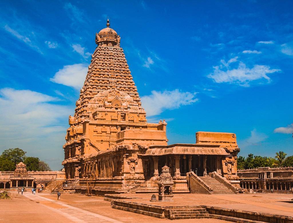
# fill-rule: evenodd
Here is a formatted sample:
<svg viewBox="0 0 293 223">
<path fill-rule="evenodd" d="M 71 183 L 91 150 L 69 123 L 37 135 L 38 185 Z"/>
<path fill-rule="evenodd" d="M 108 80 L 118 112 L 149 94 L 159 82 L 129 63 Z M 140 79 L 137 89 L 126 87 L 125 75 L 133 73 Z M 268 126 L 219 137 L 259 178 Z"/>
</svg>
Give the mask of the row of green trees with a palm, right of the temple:
<svg viewBox="0 0 293 223">
<path fill-rule="evenodd" d="M 239 156 L 237 159 L 237 169 L 255 169 L 258 167 L 293 167 L 293 156 L 286 157 L 283 151 L 276 152 L 276 156 L 262 157 L 248 154 L 248 157 Z"/>
</svg>

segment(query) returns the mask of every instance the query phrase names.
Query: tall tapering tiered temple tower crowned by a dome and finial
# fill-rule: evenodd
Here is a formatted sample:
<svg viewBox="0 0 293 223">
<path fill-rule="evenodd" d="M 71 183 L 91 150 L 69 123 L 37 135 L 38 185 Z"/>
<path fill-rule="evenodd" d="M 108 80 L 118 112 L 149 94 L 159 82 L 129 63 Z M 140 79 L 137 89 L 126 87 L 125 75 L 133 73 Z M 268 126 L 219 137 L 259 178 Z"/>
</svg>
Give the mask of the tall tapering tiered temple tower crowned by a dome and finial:
<svg viewBox="0 0 293 223">
<path fill-rule="evenodd" d="M 132 79 L 120 36 L 107 27 L 96 33 L 96 47 L 84 86 L 76 101 L 74 116 L 69 116 L 69 125 L 63 146 L 67 179 L 79 177 L 80 155 L 97 154 L 109 150 L 131 130 L 158 130 L 158 124 L 147 123 L 146 112 L 141 107 L 137 88 Z M 160 124 L 156 144 L 166 144 L 166 123 Z M 126 134 L 126 135 L 125 135 Z M 142 131 L 136 133 L 142 135 Z M 131 133 L 131 137 L 135 133 Z M 147 142 L 148 134 L 144 135 Z M 136 136 L 137 137 L 137 136 Z M 139 136 L 140 137 L 140 136 Z M 138 138 L 139 138 L 138 137 Z"/>
</svg>

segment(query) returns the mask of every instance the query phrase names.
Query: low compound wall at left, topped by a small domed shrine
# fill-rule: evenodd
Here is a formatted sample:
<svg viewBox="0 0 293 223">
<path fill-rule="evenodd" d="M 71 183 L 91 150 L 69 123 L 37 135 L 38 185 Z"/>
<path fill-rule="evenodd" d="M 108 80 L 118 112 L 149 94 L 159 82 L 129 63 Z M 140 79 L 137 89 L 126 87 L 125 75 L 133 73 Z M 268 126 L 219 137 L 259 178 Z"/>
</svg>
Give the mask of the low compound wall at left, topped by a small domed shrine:
<svg viewBox="0 0 293 223">
<path fill-rule="evenodd" d="M 0 188 L 17 189 L 18 187 L 46 187 L 52 181 L 65 181 L 64 171 L 27 171 L 20 162 L 15 171 L 0 171 Z"/>
</svg>

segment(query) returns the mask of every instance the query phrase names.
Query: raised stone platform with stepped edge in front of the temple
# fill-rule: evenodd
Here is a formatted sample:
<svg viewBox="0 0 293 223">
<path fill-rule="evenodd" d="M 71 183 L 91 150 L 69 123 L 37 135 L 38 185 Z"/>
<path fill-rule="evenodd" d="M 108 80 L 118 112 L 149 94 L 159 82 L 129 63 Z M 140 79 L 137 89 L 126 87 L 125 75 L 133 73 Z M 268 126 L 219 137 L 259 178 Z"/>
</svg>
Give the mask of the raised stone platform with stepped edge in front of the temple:
<svg viewBox="0 0 293 223">
<path fill-rule="evenodd" d="M 156 194 L 157 195 L 157 194 Z M 149 194 L 111 195 L 111 207 L 167 219 L 215 218 L 232 222 L 293 222 L 292 195 L 178 194 L 173 202 L 151 202 Z M 108 195 L 105 195 L 107 200 Z"/>
</svg>

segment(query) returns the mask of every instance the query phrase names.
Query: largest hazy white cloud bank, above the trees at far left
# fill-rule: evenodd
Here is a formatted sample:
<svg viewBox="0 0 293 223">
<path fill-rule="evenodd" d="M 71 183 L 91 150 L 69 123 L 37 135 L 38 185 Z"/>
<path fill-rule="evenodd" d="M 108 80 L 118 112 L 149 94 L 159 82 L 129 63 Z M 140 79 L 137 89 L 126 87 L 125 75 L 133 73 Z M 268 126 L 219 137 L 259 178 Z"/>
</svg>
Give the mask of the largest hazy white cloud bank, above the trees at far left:
<svg viewBox="0 0 293 223">
<path fill-rule="evenodd" d="M 0 89 L 0 152 L 19 147 L 28 156 L 61 167 L 68 115 L 74 108 L 57 104 L 58 98 L 31 90 Z M 65 120 L 65 121 L 64 121 Z"/>
</svg>

